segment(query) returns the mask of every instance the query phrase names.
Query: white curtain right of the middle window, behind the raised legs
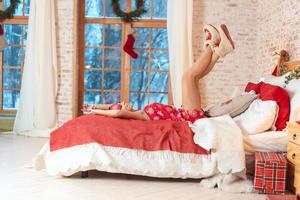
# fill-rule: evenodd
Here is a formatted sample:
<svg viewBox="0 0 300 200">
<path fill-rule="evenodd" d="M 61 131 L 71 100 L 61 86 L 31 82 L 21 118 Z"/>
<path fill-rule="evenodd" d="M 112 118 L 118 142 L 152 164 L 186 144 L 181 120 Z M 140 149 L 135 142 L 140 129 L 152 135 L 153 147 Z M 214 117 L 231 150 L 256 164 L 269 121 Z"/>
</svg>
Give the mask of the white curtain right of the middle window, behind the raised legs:
<svg viewBox="0 0 300 200">
<path fill-rule="evenodd" d="M 193 62 L 193 0 L 168 0 L 168 40 L 173 101 L 181 106 L 181 76 Z"/>
</svg>

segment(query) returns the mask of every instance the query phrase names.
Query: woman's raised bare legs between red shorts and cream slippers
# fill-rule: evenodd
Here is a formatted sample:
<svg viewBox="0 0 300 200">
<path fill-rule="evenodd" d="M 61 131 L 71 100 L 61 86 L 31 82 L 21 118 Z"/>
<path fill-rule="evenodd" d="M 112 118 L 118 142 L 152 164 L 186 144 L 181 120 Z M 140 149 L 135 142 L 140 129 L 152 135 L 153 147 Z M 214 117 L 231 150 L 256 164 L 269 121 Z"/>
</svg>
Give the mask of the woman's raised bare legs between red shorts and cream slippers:
<svg viewBox="0 0 300 200">
<path fill-rule="evenodd" d="M 198 89 L 198 78 L 203 77 L 205 72 L 209 72 L 208 67 L 212 61 L 213 52 L 211 48 L 206 48 L 203 55 L 190 67 L 182 76 L 182 106 L 188 111 L 201 108 L 201 96 Z M 216 62 L 214 58 L 214 63 Z"/>
</svg>

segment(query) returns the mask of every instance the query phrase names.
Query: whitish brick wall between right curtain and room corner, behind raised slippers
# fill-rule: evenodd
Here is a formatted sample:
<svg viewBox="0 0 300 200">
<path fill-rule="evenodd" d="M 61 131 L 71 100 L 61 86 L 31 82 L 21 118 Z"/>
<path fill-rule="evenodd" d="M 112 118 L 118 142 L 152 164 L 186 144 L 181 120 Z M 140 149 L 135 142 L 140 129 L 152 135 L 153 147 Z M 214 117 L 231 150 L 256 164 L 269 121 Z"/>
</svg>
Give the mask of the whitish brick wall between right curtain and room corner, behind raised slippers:
<svg viewBox="0 0 300 200">
<path fill-rule="evenodd" d="M 256 0 L 194 1 L 193 49 L 194 59 L 202 51 L 205 24 L 227 24 L 236 49 L 200 81 L 202 104 L 211 105 L 229 98 L 235 88 L 242 91 L 256 75 Z"/>
</svg>

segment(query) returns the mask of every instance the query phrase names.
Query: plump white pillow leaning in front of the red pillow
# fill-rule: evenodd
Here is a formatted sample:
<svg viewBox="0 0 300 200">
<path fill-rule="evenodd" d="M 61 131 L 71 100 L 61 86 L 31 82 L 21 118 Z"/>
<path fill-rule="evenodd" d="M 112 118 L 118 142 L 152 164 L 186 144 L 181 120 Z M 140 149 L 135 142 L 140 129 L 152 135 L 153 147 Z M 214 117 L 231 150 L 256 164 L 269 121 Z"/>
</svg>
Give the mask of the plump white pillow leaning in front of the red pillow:
<svg viewBox="0 0 300 200">
<path fill-rule="evenodd" d="M 278 106 L 275 101 L 254 100 L 249 108 L 234 118 L 243 133 L 257 134 L 273 127 Z"/>
</svg>

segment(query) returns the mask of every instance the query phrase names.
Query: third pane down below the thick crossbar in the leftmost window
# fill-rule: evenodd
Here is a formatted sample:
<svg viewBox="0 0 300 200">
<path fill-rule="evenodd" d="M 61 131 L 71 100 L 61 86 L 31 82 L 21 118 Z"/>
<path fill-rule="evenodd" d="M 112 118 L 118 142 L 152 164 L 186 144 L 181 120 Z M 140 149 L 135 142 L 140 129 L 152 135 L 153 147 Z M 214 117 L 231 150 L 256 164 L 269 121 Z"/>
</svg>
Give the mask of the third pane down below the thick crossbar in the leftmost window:
<svg viewBox="0 0 300 200">
<path fill-rule="evenodd" d="M 20 88 L 20 85 L 20 69 L 3 69 L 3 88 Z"/>
</svg>

